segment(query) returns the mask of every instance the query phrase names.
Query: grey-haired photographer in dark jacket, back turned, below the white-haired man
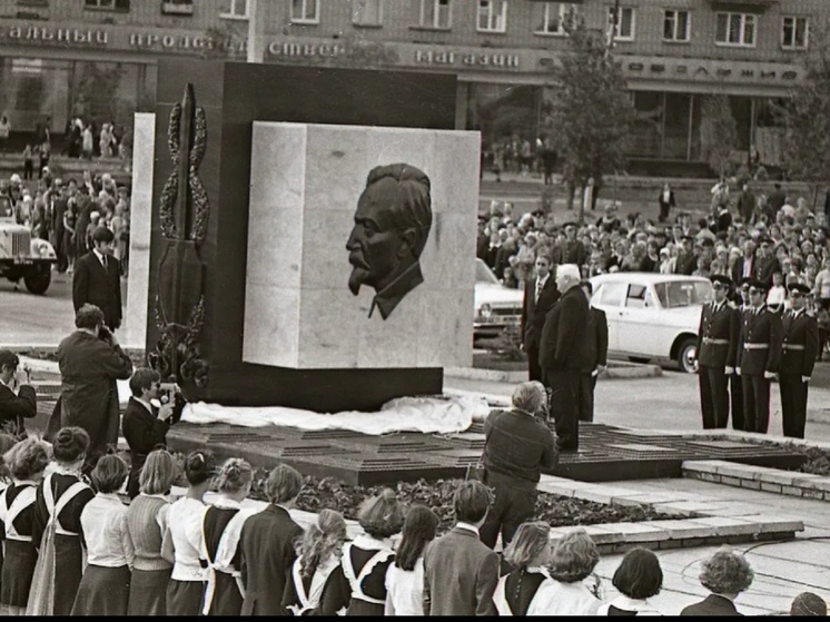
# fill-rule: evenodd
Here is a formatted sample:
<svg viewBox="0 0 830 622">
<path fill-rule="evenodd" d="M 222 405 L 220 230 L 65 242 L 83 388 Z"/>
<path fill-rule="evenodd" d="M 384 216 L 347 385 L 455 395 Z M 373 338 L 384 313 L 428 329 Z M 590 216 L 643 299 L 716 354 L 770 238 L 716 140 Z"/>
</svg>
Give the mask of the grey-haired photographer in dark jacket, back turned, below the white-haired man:
<svg viewBox="0 0 830 622">
<path fill-rule="evenodd" d="M 511 402 L 512 408 L 493 411 L 484 421 L 483 481 L 495 488 L 495 501 L 480 533 L 491 549 L 500 532 L 507 546 L 518 525 L 533 517 L 541 471 L 559 460 L 555 435 L 543 423 L 547 394 L 542 383 L 520 384 Z"/>
</svg>

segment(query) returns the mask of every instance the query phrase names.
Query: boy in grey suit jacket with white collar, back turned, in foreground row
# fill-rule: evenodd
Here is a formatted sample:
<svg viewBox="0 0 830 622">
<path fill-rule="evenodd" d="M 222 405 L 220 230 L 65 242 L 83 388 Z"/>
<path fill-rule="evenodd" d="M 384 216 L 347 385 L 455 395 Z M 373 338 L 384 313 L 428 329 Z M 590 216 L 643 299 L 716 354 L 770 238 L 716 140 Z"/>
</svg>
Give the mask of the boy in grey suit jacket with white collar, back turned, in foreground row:
<svg viewBox="0 0 830 622">
<path fill-rule="evenodd" d="M 487 486 L 476 481 L 462 482 L 455 491 L 455 526 L 424 551 L 425 615 L 497 615 L 498 555 L 478 537 L 490 497 Z"/>
</svg>

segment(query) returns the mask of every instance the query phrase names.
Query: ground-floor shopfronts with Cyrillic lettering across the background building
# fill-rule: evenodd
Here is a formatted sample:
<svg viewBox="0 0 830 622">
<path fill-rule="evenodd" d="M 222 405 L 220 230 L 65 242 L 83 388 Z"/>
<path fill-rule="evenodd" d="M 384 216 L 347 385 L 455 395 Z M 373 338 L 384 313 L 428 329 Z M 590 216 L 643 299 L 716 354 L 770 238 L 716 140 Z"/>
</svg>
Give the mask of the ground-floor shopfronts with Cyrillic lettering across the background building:
<svg viewBox="0 0 830 622">
<path fill-rule="evenodd" d="M 0 115 L 14 129 L 49 119 L 53 135 L 80 115 L 129 125 L 136 110 L 154 107 L 158 58 L 184 55 L 244 59 L 246 32 L 217 40 L 208 33 L 162 28 L 66 24 L 0 26 Z M 541 49 L 498 49 L 318 39 L 265 34 L 263 60 L 303 66 L 453 72 L 458 77 L 456 127 L 482 132 L 483 145 L 535 147 L 555 131 L 545 111 L 557 59 Z M 777 164 L 779 130 L 772 102 L 803 80 L 797 65 L 723 62 L 684 58 L 617 57 L 636 110 L 630 156 L 700 162 L 705 145 L 705 98 L 730 98 L 738 126 L 737 151 L 754 147 Z M 512 147 L 515 148 L 515 147 Z"/>
</svg>

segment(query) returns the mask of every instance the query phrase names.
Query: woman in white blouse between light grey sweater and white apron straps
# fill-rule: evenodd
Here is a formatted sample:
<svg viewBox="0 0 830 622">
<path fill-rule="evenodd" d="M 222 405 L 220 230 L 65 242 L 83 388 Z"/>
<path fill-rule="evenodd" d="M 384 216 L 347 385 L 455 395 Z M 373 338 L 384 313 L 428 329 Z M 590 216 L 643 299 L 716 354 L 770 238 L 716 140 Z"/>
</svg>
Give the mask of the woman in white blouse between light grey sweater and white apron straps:
<svg viewBox="0 0 830 622">
<path fill-rule="evenodd" d="M 205 493 L 216 474 L 216 461 L 208 452 L 192 452 L 185 458 L 187 494 L 167 512 L 167 531 L 161 543 L 161 556 L 172 564 L 167 585 L 167 615 L 199 615 L 207 581 L 206 569 L 199 564 L 201 520 L 205 515 Z"/>
</svg>

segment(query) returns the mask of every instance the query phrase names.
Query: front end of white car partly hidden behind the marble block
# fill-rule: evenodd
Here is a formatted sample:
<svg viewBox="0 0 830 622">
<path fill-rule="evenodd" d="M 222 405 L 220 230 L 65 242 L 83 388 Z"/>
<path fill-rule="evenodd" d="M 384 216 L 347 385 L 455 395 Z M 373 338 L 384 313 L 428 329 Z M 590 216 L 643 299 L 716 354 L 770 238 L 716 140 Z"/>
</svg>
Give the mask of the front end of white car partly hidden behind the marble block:
<svg viewBox="0 0 830 622">
<path fill-rule="evenodd" d="M 507 326 L 517 326 L 522 320 L 521 289 L 505 287 L 487 264 L 475 260 L 475 312 L 473 337 L 497 337 Z"/>
</svg>

